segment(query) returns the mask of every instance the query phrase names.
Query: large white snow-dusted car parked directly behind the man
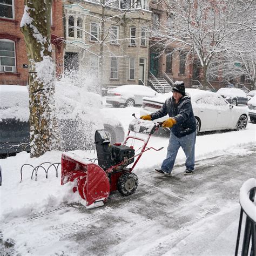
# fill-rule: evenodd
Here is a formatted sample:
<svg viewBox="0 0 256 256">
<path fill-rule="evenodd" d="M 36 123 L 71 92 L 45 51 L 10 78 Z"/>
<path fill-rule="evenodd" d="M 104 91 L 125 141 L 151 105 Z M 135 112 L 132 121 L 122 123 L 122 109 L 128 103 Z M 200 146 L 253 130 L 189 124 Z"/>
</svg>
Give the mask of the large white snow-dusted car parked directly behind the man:
<svg viewBox="0 0 256 256">
<path fill-rule="evenodd" d="M 197 134 L 199 132 L 217 130 L 245 129 L 248 120 L 246 106 L 233 106 L 215 92 L 198 89 L 186 89 L 191 96 L 194 116 L 197 120 Z M 165 93 L 157 98 L 144 98 L 140 108 L 140 115 L 151 114 L 160 109 L 165 100 L 172 96 L 172 92 Z M 156 119 L 162 122 L 168 116 Z M 169 132 L 169 130 L 165 129 Z"/>
</svg>

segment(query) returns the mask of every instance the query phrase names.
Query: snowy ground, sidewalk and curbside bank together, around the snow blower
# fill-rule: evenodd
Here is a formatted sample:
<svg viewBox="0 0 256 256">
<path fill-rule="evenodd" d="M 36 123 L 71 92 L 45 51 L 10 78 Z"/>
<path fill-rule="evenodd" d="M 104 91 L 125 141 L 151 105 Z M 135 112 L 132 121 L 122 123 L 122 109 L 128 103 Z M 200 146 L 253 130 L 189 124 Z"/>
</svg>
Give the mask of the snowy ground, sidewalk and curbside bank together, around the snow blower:
<svg viewBox="0 0 256 256">
<path fill-rule="evenodd" d="M 125 131 L 139 108 L 105 107 Z M 60 162 L 61 152 L 30 159 L 25 152 L 1 159 L 1 251 L 20 255 L 233 255 L 240 213 L 239 190 L 255 177 L 256 125 L 242 131 L 197 137 L 196 169 L 184 176 L 185 155 L 179 151 L 172 177 L 154 172 L 165 157 L 167 138 L 152 137 L 134 172 L 137 191 L 129 197 L 111 194 L 101 208 L 86 210 L 72 185 L 60 186 L 31 169 L 45 161 Z M 95 152 L 76 151 L 80 157 Z M 241 249 L 241 247 L 240 247 Z"/>
</svg>

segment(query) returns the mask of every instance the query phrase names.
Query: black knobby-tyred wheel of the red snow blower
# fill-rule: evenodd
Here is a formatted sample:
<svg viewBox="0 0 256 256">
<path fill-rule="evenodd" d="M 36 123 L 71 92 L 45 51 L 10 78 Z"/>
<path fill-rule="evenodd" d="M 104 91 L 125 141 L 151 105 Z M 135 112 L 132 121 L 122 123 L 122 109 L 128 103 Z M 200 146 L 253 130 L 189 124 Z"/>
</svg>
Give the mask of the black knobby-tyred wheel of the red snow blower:
<svg viewBox="0 0 256 256">
<path fill-rule="evenodd" d="M 124 196 L 130 196 L 138 187 L 138 177 L 133 172 L 126 172 L 118 179 L 117 190 Z"/>
</svg>

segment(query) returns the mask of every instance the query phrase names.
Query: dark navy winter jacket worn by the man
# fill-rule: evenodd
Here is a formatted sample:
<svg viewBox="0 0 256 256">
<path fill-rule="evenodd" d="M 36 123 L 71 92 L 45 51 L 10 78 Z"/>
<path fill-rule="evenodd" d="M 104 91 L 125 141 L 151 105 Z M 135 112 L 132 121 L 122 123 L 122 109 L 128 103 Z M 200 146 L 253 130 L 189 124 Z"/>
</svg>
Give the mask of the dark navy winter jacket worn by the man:
<svg viewBox="0 0 256 256">
<path fill-rule="evenodd" d="M 194 117 L 190 96 L 182 97 L 178 104 L 175 103 L 173 97 L 166 99 L 161 109 L 151 114 L 151 120 L 164 117 L 166 114 L 177 121 L 171 131 L 178 138 L 196 131 L 196 118 Z"/>
</svg>

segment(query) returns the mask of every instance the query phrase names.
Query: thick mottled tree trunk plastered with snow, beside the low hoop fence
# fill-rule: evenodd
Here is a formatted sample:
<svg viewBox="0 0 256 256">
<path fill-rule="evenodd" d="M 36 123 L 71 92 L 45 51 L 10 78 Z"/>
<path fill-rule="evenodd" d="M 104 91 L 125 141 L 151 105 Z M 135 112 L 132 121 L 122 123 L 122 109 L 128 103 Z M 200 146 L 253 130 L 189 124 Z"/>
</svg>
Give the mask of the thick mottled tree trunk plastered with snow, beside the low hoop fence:
<svg viewBox="0 0 256 256">
<path fill-rule="evenodd" d="M 52 149 L 54 65 L 51 58 L 52 0 L 25 0 L 21 30 L 29 59 L 30 157 Z"/>
</svg>

